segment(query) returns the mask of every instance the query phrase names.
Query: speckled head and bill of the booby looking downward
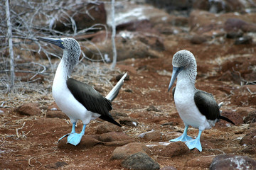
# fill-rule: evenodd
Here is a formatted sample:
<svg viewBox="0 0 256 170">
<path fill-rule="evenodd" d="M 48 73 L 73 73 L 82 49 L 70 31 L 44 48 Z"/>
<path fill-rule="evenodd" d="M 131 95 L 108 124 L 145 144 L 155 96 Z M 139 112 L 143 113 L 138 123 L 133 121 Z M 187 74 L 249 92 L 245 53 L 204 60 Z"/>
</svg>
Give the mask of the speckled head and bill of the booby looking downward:
<svg viewBox="0 0 256 170">
<path fill-rule="evenodd" d="M 188 50 L 180 50 L 175 53 L 173 60 L 173 74 L 171 75 L 171 81 L 169 84 L 168 91 L 171 89 L 171 86 L 174 84 L 178 74 L 186 69 L 188 78 L 191 78 L 193 81 L 196 79 L 196 59 L 193 54 Z"/>
</svg>

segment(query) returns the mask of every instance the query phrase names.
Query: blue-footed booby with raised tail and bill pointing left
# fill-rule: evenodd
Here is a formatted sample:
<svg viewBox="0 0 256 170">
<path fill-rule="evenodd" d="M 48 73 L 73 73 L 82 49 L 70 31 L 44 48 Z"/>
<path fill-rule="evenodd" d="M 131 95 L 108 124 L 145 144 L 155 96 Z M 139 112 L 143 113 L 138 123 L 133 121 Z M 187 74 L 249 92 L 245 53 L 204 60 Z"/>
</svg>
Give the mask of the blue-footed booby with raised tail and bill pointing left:
<svg viewBox="0 0 256 170">
<path fill-rule="evenodd" d="M 68 115 L 71 123 L 73 123 L 71 133 L 64 135 L 68 136 L 68 142 L 72 145 L 78 145 L 85 134 L 85 127 L 90 120 L 101 118 L 110 123 L 121 126 L 110 115 L 112 110 L 112 101 L 117 97 L 119 89 L 124 84 L 124 78 L 127 73 L 117 82 L 116 86 L 107 94 L 102 96 L 92 86 L 83 84 L 80 81 L 69 78 L 80 57 L 80 45 L 73 38 L 38 38 L 44 42 L 50 42 L 63 49 L 63 57 L 58 64 L 53 80 L 53 98 L 55 103 L 63 113 Z M 82 132 L 75 132 L 75 124 L 78 120 L 82 120 Z M 61 137 L 61 139 L 63 139 Z"/>
</svg>

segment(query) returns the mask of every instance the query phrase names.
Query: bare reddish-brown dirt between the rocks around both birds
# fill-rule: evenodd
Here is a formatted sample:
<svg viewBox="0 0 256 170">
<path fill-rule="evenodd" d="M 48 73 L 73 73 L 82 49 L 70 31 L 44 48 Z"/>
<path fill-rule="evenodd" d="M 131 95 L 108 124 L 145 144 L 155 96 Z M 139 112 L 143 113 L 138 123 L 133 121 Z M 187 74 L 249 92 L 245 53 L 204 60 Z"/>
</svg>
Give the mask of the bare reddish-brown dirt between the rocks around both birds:
<svg viewBox="0 0 256 170">
<path fill-rule="evenodd" d="M 244 63 L 240 67 L 242 63 L 239 60 L 237 64 L 232 64 L 235 59 L 227 59 L 227 56 L 242 55 L 247 52 L 246 54 L 249 54 L 247 60 L 253 60 L 252 58 L 256 57 L 253 53 L 256 51 L 255 45 L 235 46 L 230 40 L 220 45 L 193 45 L 189 40 L 178 36 L 176 41 L 178 44 L 167 49 L 163 57 L 129 59 L 117 64 L 119 70 L 129 72 L 130 79 L 124 82 L 119 96 L 113 102 L 112 112 L 126 113 L 139 123 L 137 127 L 124 125 L 122 131 L 135 141 L 145 144 L 151 141 L 137 138 L 139 133 L 152 129 L 158 130 L 164 134 L 164 137 L 156 142 L 166 142 L 176 137 L 177 132 L 183 132 L 183 122 L 178 116 L 171 92 L 167 93 L 167 89 L 171 79 L 172 56 L 181 49 L 191 50 L 198 63 L 196 87 L 212 93 L 218 103 L 224 101 L 223 115 L 233 120 L 235 125 L 228 127 L 223 120 L 220 120 L 214 128 L 205 130 L 201 137 L 203 152 L 193 150 L 188 154 L 170 158 L 159 156 L 157 151 L 151 148 L 150 156 L 161 167 L 174 166 L 176 169 L 208 169 L 213 157 L 224 153 L 246 155 L 256 159 L 255 151 L 246 152 L 250 146 L 240 145 L 240 139 L 248 132 L 255 130 L 254 124 L 243 124 L 243 116 L 247 115 L 248 109 L 256 108 L 255 93 L 250 94 L 246 88 L 242 89 L 240 79 L 229 76 L 228 79 L 225 78 L 228 71 L 231 72 L 230 75 L 235 74 L 233 68 L 240 71 L 242 77 L 247 75 L 250 64 Z M 224 64 L 217 62 L 218 57 L 223 57 Z M 230 60 L 230 64 L 225 60 Z M 161 74 L 164 70 L 168 74 Z M 112 83 L 115 84 L 115 81 Z M 128 89 L 132 92 L 127 92 Z M 103 91 L 103 94 L 107 94 L 107 91 Z M 28 94 L 28 98 L 29 95 L 33 93 Z M 52 96 L 49 94 L 46 98 L 52 98 Z M 20 106 L 28 99 L 16 100 L 20 101 L 18 105 Z M 112 146 L 96 145 L 87 149 L 58 148 L 56 143 L 58 138 L 70 132 L 71 125 L 67 123 L 68 120 L 46 118 L 46 108 L 52 104 L 51 102 L 46 102 L 43 98 L 32 102 L 40 104 L 43 110 L 41 115 L 19 115 L 12 108 L 2 109 L 4 113 L 0 114 L 1 169 L 53 169 L 61 165 L 65 165 L 63 169 L 123 169 L 120 161 L 110 161 L 115 149 Z M 154 106 L 160 111 L 146 111 L 149 106 Z M 171 125 L 160 125 L 160 123 L 169 122 Z M 85 135 L 95 134 L 97 125 L 100 125 L 98 121 L 92 121 L 87 125 Z M 78 123 L 78 130 L 81 128 L 82 124 Z M 188 129 L 188 135 L 195 137 L 197 134 L 198 130 Z M 195 157 L 206 158 L 206 165 L 200 162 L 193 163 L 192 159 Z"/>
</svg>

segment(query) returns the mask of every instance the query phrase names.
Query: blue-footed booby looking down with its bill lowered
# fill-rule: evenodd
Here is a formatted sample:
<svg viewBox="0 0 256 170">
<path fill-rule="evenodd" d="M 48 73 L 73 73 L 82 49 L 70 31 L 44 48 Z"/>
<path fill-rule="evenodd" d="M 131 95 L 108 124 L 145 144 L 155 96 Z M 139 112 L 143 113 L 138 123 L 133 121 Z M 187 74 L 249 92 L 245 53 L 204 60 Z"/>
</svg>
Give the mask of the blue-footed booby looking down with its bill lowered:
<svg viewBox="0 0 256 170">
<path fill-rule="evenodd" d="M 183 141 L 186 142 L 189 149 L 197 148 L 201 152 L 200 137 L 203 130 L 212 128 L 219 119 L 234 123 L 220 115 L 220 106 L 218 106 L 212 94 L 196 89 L 196 59 L 191 52 L 188 50 L 176 52 L 172 64 L 173 73 L 168 91 L 177 77 L 177 84 L 172 90 L 172 94 L 178 115 L 180 115 L 185 125 L 185 130 L 181 137 L 169 142 Z M 189 125 L 199 129 L 196 139 L 187 135 Z"/>
</svg>

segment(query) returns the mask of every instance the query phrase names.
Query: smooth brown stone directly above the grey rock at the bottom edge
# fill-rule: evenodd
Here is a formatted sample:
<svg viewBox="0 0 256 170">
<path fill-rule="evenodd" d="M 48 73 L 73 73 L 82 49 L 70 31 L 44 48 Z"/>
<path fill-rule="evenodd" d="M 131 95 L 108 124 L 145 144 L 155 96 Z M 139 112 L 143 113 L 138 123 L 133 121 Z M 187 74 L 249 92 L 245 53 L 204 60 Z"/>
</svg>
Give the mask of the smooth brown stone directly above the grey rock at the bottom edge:
<svg viewBox="0 0 256 170">
<path fill-rule="evenodd" d="M 112 155 L 110 157 L 110 160 L 114 159 L 125 159 L 129 157 L 132 154 L 136 154 L 138 152 L 150 154 L 150 150 L 144 143 L 140 142 L 132 142 L 127 145 L 124 145 L 122 147 L 117 147 L 112 152 Z"/>
</svg>

